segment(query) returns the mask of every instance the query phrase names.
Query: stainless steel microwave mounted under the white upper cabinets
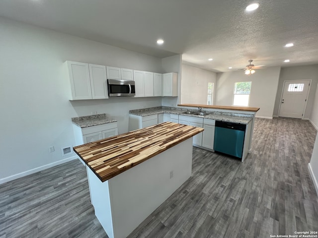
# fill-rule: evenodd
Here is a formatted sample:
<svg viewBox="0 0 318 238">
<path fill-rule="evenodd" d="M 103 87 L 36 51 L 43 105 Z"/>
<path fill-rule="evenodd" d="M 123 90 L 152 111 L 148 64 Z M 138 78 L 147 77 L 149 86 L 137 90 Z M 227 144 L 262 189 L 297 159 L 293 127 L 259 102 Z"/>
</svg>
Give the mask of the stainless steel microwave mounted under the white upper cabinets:
<svg viewBox="0 0 318 238">
<path fill-rule="evenodd" d="M 107 79 L 110 97 L 135 96 L 135 81 Z"/>
</svg>

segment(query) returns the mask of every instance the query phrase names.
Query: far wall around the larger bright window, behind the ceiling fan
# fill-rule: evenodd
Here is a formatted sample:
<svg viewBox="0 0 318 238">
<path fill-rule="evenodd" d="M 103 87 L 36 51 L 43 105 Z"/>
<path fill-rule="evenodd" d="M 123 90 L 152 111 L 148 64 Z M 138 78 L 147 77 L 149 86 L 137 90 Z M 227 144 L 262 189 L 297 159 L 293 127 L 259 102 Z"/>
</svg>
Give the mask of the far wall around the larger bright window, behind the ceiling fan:
<svg viewBox="0 0 318 238">
<path fill-rule="evenodd" d="M 250 76 L 242 70 L 217 73 L 215 105 L 232 106 L 235 82 L 251 81 L 249 107 L 260 108 L 256 117 L 272 118 L 279 72 L 280 67 L 269 67 L 257 69 Z"/>
</svg>

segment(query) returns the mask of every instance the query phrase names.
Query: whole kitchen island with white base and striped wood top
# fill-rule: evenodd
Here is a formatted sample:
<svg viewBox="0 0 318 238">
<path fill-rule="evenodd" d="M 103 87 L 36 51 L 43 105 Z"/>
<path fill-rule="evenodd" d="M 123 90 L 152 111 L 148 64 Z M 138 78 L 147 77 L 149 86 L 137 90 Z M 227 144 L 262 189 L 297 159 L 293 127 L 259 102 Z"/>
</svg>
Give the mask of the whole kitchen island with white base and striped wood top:
<svg viewBox="0 0 318 238">
<path fill-rule="evenodd" d="M 163 122 L 74 147 L 108 237 L 127 237 L 191 176 L 192 136 L 202 131 Z"/>
</svg>

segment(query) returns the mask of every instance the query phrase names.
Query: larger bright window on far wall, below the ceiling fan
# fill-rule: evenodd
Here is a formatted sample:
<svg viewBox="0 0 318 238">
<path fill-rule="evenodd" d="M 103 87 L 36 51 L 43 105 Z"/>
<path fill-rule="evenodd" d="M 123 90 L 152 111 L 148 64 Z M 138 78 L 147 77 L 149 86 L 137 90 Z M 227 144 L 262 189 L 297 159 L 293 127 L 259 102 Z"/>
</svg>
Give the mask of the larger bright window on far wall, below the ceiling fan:
<svg viewBox="0 0 318 238">
<path fill-rule="evenodd" d="M 252 82 L 237 82 L 234 85 L 233 106 L 248 106 Z"/>
</svg>

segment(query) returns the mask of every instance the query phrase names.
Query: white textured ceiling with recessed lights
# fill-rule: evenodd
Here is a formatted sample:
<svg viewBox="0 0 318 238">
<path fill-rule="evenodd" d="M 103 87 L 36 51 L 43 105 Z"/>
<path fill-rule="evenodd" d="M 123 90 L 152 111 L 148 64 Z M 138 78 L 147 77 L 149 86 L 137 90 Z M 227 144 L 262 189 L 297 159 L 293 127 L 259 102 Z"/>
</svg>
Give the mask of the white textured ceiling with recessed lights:
<svg viewBox="0 0 318 238">
<path fill-rule="evenodd" d="M 256 0 L 259 8 L 246 13 L 251 2 L 1 0 L 0 16 L 159 58 L 182 54 L 215 72 L 249 59 L 265 67 L 318 64 L 318 0 Z"/>
</svg>

